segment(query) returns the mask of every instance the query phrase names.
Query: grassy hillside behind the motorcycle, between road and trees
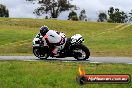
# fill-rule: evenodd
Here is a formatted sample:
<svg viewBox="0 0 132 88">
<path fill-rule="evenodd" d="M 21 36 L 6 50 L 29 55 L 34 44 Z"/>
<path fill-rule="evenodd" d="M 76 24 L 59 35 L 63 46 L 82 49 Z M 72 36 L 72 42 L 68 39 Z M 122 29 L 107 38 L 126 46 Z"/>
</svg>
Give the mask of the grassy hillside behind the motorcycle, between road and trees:
<svg viewBox="0 0 132 88">
<path fill-rule="evenodd" d="M 132 25 L 20 18 L 0 18 L 0 55 L 31 55 L 42 25 L 67 37 L 81 34 L 91 56 L 132 56 Z"/>
</svg>

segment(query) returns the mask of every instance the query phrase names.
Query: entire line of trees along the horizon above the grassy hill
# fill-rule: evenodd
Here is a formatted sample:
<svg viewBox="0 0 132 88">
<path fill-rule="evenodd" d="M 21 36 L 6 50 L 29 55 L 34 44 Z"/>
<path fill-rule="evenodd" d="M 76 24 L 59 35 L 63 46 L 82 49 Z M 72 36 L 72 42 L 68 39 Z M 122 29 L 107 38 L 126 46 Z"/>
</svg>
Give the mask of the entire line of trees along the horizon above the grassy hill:
<svg viewBox="0 0 132 88">
<path fill-rule="evenodd" d="M 43 14 L 49 14 L 48 18 L 58 18 L 60 13 L 64 11 L 71 11 L 68 15 L 68 20 L 74 21 L 87 21 L 87 15 L 85 9 L 81 10 L 78 14 L 76 10 L 78 7 L 71 4 L 72 0 L 26 0 L 27 2 L 36 2 L 40 7 L 34 10 L 36 16 L 42 16 Z M 9 17 L 9 10 L 5 5 L 0 4 L 0 17 Z M 111 22 L 111 23 L 126 23 L 132 21 L 132 11 L 127 14 L 121 11 L 119 8 L 110 7 L 107 11 L 100 11 L 98 14 L 97 22 Z"/>
</svg>

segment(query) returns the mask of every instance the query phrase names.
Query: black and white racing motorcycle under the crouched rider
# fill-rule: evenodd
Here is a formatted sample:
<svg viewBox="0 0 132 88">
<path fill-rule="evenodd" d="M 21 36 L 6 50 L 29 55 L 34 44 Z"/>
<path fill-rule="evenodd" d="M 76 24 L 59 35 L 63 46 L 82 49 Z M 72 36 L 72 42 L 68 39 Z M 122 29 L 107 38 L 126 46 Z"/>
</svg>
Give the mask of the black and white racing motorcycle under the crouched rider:
<svg viewBox="0 0 132 88">
<path fill-rule="evenodd" d="M 90 56 L 89 49 L 83 45 L 83 37 L 80 34 L 76 34 L 71 38 L 65 38 L 65 46 L 59 52 L 59 56 L 55 56 L 52 53 L 54 44 L 48 46 L 46 41 L 42 40 L 42 36 L 38 33 L 33 39 L 33 54 L 41 60 L 47 59 L 48 57 L 52 58 L 65 58 L 65 57 L 74 57 L 77 60 L 86 60 Z"/>
</svg>

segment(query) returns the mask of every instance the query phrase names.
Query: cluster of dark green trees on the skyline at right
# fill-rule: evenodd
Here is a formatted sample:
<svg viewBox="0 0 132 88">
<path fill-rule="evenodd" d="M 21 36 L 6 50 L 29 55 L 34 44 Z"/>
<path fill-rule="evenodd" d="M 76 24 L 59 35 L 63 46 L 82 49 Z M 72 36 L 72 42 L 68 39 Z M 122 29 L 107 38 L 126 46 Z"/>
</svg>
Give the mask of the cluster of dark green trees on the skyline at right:
<svg viewBox="0 0 132 88">
<path fill-rule="evenodd" d="M 98 22 L 126 23 L 132 21 L 132 12 L 129 14 L 119 8 L 110 7 L 107 12 L 100 12 Z"/>
</svg>

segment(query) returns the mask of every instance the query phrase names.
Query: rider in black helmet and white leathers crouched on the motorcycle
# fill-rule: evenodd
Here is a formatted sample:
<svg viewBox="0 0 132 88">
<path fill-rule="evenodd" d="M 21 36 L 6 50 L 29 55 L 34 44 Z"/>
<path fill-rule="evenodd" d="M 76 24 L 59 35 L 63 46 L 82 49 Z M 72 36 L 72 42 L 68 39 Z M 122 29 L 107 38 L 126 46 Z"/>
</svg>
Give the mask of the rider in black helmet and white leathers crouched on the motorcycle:
<svg viewBox="0 0 132 88">
<path fill-rule="evenodd" d="M 43 36 L 42 40 L 46 41 L 47 45 L 51 48 L 51 45 L 55 47 L 52 49 L 52 53 L 55 56 L 59 56 L 59 52 L 64 48 L 66 43 L 66 36 L 62 32 L 55 30 L 49 30 L 47 26 L 40 27 L 40 34 Z"/>
</svg>

